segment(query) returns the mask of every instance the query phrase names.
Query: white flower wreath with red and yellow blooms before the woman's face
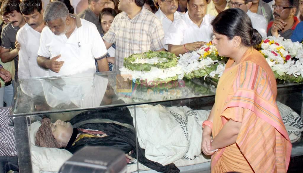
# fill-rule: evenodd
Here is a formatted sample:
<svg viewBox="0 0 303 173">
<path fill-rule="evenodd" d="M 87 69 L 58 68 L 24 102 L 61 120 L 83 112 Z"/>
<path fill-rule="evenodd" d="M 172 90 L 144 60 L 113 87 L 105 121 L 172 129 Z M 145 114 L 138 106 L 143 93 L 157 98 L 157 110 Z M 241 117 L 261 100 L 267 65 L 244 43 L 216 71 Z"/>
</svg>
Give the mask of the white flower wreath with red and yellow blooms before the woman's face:
<svg viewBox="0 0 303 173">
<path fill-rule="evenodd" d="M 208 42 L 197 51 L 179 55 L 179 63 L 187 79 L 199 77 L 218 78 L 225 69 L 227 58 L 219 56 L 216 47 Z"/>
</svg>

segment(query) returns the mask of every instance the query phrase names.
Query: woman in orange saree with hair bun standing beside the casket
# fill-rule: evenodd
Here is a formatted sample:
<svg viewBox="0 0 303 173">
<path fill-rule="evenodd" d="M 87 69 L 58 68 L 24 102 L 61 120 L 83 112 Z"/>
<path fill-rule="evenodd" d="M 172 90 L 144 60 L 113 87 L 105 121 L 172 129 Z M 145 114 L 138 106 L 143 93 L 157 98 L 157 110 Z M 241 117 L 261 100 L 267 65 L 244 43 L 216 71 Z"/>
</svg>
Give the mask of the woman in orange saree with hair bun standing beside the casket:
<svg viewBox="0 0 303 173">
<path fill-rule="evenodd" d="M 275 76 L 253 49 L 261 35 L 239 8 L 221 12 L 211 25 L 219 55 L 230 57 L 203 122 L 201 150 L 212 155 L 211 172 L 286 172 L 291 143 L 276 105 Z"/>
</svg>

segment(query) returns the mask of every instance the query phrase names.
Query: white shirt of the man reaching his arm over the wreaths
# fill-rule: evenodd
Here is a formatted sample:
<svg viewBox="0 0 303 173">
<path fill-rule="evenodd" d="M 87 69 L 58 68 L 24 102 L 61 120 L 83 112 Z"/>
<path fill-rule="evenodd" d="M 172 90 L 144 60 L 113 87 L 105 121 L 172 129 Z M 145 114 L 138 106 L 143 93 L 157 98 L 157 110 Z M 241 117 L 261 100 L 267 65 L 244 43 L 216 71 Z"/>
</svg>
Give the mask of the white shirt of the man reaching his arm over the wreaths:
<svg viewBox="0 0 303 173">
<path fill-rule="evenodd" d="M 200 25 L 196 25 L 189 18 L 188 12 L 181 19 L 174 20 L 164 37 L 164 44 L 182 45 L 197 41 L 209 42 L 214 35 L 211 21 L 215 19 L 212 15 L 205 15 Z"/>
</svg>

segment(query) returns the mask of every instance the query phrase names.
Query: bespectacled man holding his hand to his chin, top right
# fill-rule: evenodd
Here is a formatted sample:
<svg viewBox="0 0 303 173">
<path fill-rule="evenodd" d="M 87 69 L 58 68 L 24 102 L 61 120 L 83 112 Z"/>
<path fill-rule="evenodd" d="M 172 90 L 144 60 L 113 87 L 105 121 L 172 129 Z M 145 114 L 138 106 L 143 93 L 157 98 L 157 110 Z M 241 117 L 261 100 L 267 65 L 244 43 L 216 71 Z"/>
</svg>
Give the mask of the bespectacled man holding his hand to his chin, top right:
<svg viewBox="0 0 303 173">
<path fill-rule="evenodd" d="M 299 23 L 299 19 L 295 16 L 298 0 L 276 0 L 272 6 L 275 18 L 268 24 L 267 36 L 278 37 L 280 35 L 289 39 Z"/>
</svg>

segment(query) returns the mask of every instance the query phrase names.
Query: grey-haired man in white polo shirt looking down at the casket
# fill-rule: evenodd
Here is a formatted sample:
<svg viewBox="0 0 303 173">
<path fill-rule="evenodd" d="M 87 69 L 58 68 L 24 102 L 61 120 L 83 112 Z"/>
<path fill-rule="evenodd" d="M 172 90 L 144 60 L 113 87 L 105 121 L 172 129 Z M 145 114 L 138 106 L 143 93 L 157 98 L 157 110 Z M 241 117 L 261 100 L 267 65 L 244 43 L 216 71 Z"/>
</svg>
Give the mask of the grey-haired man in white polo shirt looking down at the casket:
<svg viewBox="0 0 303 173">
<path fill-rule="evenodd" d="M 108 71 L 107 50 L 93 23 L 68 14 L 58 1 L 47 5 L 44 21 L 37 62 L 48 76 L 95 73 L 95 59 L 99 71 Z"/>
</svg>

